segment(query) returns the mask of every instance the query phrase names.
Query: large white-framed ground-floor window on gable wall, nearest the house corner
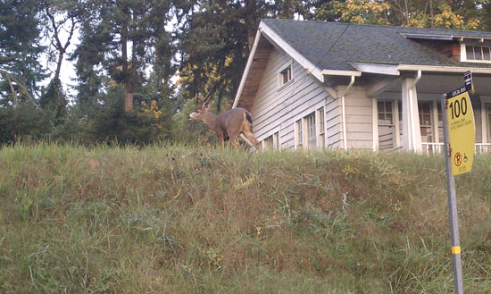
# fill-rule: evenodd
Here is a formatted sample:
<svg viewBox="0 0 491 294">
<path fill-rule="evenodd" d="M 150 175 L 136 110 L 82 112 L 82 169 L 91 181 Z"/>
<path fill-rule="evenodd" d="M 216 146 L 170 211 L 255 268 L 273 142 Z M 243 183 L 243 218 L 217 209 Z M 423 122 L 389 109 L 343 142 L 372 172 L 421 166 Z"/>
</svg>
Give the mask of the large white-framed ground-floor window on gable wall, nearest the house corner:
<svg viewBox="0 0 491 294">
<path fill-rule="evenodd" d="M 295 147 L 313 150 L 325 147 L 324 108 L 295 122 Z"/>
</svg>

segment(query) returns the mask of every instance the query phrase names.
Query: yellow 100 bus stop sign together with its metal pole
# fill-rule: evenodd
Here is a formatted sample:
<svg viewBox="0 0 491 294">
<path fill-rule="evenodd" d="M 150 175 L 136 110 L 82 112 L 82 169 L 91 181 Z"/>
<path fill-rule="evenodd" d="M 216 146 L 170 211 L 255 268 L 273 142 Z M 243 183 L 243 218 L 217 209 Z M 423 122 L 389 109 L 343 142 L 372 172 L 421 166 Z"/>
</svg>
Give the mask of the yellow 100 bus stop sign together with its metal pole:
<svg viewBox="0 0 491 294">
<path fill-rule="evenodd" d="M 472 112 L 469 97 L 469 91 L 472 90 L 472 75 L 470 71 L 465 73 L 464 79 L 464 87 L 442 95 L 441 100 L 444 123 L 448 213 L 450 216 L 456 294 L 463 294 L 463 274 L 454 176 L 470 172 L 476 141 L 474 113 Z"/>
</svg>

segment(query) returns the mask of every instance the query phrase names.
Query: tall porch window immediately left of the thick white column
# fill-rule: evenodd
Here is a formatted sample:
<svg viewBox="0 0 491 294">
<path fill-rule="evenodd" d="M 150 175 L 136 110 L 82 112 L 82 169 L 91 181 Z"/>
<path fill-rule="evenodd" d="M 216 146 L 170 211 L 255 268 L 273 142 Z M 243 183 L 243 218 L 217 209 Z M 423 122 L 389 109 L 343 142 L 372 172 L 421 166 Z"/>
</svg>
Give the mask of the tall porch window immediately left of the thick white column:
<svg viewBox="0 0 491 294">
<path fill-rule="evenodd" d="M 377 101 L 379 113 L 379 149 L 392 150 L 395 147 L 395 124 L 392 101 Z"/>
</svg>

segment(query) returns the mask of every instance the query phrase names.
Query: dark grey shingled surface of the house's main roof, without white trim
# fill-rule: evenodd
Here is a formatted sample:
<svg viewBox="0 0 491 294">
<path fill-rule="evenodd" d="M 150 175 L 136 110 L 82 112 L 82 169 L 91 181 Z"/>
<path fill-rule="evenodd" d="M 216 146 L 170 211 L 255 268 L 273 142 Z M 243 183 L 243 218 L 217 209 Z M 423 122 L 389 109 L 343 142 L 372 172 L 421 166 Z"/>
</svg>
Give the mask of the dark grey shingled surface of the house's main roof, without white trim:
<svg viewBox="0 0 491 294">
<path fill-rule="evenodd" d="M 263 20 L 279 38 L 322 70 L 356 71 L 352 63 L 491 67 L 459 63 L 418 39 L 491 40 L 491 32 L 455 29 L 418 29 L 342 22 Z"/>
</svg>

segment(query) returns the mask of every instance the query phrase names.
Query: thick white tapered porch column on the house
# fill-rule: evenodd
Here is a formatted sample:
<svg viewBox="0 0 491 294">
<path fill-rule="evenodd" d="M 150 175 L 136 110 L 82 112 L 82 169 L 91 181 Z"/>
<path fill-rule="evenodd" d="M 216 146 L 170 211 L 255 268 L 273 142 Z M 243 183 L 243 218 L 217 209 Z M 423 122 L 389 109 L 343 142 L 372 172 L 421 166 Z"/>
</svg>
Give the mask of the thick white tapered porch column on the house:
<svg viewBox="0 0 491 294">
<path fill-rule="evenodd" d="M 421 152 L 420 114 L 414 78 L 403 79 L 403 149 Z"/>
</svg>

